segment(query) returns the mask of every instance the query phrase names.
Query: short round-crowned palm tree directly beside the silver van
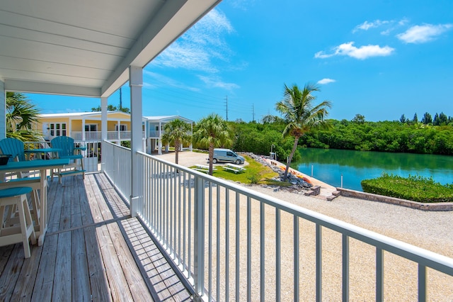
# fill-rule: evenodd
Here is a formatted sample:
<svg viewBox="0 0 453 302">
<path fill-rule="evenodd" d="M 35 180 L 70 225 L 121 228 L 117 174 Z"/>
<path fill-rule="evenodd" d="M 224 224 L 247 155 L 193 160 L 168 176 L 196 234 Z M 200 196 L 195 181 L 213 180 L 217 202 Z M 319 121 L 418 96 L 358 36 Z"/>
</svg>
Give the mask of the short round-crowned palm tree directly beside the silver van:
<svg viewBox="0 0 453 302">
<path fill-rule="evenodd" d="M 210 158 L 210 175 L 212 175 L 212 160 L 215 147 L 226 147 L 231 145 L 231 129 L 226 121 L 218 114 L 212 113 L 202 118 L 197 125 L 198 130 L 193 133 L 195 142 L 203 147 L 208 147 Z"/>
</svg>

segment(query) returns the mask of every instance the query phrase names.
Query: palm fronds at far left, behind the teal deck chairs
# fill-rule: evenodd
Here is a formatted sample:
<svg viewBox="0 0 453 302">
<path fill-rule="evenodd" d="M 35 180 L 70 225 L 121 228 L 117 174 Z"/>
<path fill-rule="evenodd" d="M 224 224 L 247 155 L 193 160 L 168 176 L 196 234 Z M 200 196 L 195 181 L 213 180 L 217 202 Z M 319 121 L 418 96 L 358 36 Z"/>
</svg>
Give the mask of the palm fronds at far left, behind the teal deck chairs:
<svg viewBox="0 0 453 302">
<path fill-rule="evenodd" d="M 6 137 L 24 142 L 42 140 L 42 134 L 33 130 L 38 124 L 40 110 L 24 94 L 6 92 Z"/>
</svg>

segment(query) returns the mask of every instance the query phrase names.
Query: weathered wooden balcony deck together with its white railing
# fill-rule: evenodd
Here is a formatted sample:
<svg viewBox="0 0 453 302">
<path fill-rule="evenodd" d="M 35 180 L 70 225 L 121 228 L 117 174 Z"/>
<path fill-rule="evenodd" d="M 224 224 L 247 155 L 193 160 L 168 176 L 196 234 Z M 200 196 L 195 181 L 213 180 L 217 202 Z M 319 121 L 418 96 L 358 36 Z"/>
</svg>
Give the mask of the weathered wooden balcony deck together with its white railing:
<svg viewBox="0 0 453 302">
<path fill-rule="evenodd" d="M 52 182 L 32 258 L 0 247 L 0 300 L 452 300 L 453 259 L 142 152 L 131 218 L 130 150 L 103 154 L 105 174 Z"/>
</svg>

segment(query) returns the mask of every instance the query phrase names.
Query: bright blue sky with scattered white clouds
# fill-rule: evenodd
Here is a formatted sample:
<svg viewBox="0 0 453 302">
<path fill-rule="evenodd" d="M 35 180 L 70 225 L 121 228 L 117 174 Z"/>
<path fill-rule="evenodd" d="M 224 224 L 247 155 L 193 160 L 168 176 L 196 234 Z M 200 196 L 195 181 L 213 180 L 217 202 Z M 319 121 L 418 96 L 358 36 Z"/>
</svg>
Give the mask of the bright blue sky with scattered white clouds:
<svg viewBox="0 0 453 302">
<path fill-rule="evenodd" d="M 226 118 L 227 99 L 229 121 L 259 121 L 278 115 L 285 84 L 307 83 L 328 118 L 453 116 L 453 1 L 224 0 L 145 67 L 143 113 Z M 42 113 L 100 104 L 28 96 Z"/>
</svg>

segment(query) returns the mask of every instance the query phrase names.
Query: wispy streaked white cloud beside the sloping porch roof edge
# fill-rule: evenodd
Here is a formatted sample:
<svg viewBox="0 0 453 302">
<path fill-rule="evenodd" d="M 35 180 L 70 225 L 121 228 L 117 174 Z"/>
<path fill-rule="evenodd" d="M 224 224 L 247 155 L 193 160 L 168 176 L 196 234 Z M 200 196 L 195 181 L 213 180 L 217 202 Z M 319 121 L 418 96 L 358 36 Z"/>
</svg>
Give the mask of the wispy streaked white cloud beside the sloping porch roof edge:
<svg viewBox="0 0 453 302">
<path fill-rule="evenodd" d="M 231 55 L 224 36 L 233 32 L 234 28 L 224 13 L 213 9 L 156 57 L 151 65 L 218 72 L 216 62 L 228 62 Z"/>
</svg>

